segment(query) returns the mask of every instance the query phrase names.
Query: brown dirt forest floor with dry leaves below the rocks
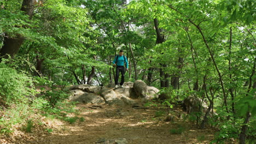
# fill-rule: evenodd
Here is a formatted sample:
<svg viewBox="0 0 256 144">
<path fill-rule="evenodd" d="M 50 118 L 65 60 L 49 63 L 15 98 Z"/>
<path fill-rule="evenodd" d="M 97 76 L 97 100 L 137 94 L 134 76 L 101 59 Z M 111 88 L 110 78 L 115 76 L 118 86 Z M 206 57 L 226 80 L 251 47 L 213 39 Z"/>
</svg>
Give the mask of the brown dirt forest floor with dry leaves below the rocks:
<svg viewBox="0 0 256 144">
<path fill-rule="evenodd" d="M 211 128 L 198 129 L 182 119 L 165 122 L 165 115 L 156 117 L 157 111 L 170 111 L 167 107 L 144 107 L 144 103 L 137 101 L 139 107 L 131 105 L 101 105 L 77 104 L 80 111 L 78 117 L 84 121 L 73 124 L 58 119 L 43 119 L 45 125 L 51 127 L 53 132 L 46 133 L 42 127 L 32 130 L 33 133 L 20 135 L 19 140 L 13 143 L 96 143 L 100 138 L 125 138 L 130 144 L 169 144 L 169 143 L 210 143 L 214 131 Z M 172 111 L 172 110 L 171 110 Z M 173 115 L 182 113 L 182 110 L 173 110 Z M 171 134 L 171 129 L 178 125 L 185 128 L 181 134 Z"/>
</svg>

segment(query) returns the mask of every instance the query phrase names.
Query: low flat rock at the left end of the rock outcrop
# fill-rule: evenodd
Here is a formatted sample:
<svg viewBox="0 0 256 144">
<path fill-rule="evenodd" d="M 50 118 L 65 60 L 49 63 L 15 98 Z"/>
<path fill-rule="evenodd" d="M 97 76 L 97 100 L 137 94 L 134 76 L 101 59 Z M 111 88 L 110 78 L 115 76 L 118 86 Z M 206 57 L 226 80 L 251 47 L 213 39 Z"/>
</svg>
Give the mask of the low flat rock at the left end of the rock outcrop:
<svg viewBox="0 0 256 144">
<path fill-rule="evenodd" d="M 78 101 L 80 103 L 85 104 L 104 104 L 105 101 L 100 95 L 96 95 L 94 93 L 83 93 L 82 95 L 75 95 L 70 98 L 71 101 Z"/>
</svg>

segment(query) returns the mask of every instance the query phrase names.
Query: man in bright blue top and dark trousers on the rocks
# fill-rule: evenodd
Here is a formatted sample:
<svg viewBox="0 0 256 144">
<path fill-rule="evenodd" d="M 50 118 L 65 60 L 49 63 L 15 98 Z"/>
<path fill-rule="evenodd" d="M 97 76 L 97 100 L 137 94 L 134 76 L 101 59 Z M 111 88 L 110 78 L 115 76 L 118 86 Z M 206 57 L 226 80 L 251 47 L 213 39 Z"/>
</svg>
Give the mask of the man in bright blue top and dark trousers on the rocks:
<svg viewBox="0 0 256 144">
<path fill-rule="evenodd" d="M 124 62 L 126 64 L 126 70 L 128 70 L 128 61 L 126 56 L 124 56 L 123 50 L 119 51 L 119 55 L 115 56 L 113 61 L 113 66 L 117 66 L 117 70 L 115 71 L 115 88 L 118 88 L 118 78 L 119 78 L 119 72 L 121 71 L 121 82 L 120 86 L 124 87 L 124 76 L 125 76 L 125 67 Z"/>
</svg>

